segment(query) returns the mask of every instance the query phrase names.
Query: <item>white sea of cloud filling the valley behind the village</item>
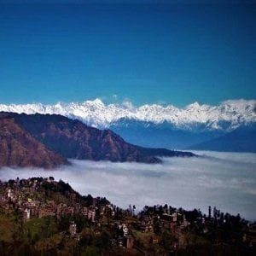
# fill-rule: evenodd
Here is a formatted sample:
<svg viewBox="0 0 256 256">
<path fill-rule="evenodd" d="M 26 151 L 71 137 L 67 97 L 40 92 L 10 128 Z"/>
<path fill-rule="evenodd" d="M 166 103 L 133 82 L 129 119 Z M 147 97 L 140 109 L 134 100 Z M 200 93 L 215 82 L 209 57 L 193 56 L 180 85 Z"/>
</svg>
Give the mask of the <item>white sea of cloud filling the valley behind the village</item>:
<svg viewBox="0 0 256 256">
<path fill-rule="evenodd" d="M 82 195 L 106 196 L 119 207 L 165 204 L 185 209 L 216 206 L 256 219 L 256 154 L 196 152 L 196 158 L 164 158 L 162 164 L 71 160 L 59 169 L 0 169 L 0 179 L 48 177 L 70 183 Z"/>
</svg>

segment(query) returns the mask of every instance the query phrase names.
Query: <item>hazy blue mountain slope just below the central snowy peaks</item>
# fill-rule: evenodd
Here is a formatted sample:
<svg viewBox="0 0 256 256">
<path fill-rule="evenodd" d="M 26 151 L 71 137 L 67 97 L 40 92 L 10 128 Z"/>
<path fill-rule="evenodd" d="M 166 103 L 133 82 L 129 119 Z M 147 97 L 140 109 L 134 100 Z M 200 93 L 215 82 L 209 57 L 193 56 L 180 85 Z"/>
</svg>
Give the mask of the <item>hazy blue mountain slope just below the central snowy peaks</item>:
<svg viewBox="0 0 256 256">
<path fill-rule="evenodd" d="M 154 124 L 137 120 L 122 119 L 110 126 L 110 129 L 124 137 L 126 141 L 143 147 L 189 148 L 225 134 L 224 131 L 207 130 L 205 125 L 191 126 L 191 130 L 177 129 L 165 122 Z"/>
</svg>

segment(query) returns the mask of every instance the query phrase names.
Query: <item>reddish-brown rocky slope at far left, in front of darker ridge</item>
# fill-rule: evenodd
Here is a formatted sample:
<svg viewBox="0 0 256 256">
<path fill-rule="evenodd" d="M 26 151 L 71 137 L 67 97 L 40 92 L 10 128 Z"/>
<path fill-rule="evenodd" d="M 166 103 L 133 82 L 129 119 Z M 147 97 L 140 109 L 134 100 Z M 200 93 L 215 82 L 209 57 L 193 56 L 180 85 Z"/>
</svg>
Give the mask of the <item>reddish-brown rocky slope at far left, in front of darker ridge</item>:
<svg viewBox="0 0 256 256">
<path fill-rule="evenodd" d="M 22 129 L 15 119 L 0 116 L 0 167 L 53 168 L 66 163 L 60 154 L 55 154 Z"/>
</svg>

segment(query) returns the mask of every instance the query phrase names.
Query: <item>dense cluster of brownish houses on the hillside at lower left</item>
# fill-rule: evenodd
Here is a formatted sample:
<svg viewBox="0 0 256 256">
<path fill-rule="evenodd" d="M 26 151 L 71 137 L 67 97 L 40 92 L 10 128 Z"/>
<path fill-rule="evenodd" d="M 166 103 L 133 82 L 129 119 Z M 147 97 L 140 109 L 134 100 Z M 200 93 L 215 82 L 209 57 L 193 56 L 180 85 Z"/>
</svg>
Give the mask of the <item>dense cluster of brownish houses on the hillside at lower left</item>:
<svg viewBox="0 0 256 256">
<path fill-rule="evenodd" d="M 52 177 L 48 178 L 19 178 L 0 183 L 0 207 L 5 211 L 10 209 L 19 209 L 22 212 L 24 220 L 30 218 L 43 218 L 46 216 L 55 216 L 61 218 L 64 216 L 73 217 L 74 214 L 82 214 L 84 218 L 96 222 L 96 199 L 90 207 L 84 207 L 75 200 L 75 196 L 70 195 L 73 200 L 66 203 L 56 203 L 54 200 L 47 200 L 40 197 L 38 189 L 43 183 L 55 183 Z M 102 211 L 104 211 L 102 209 Z"/>
</svg>

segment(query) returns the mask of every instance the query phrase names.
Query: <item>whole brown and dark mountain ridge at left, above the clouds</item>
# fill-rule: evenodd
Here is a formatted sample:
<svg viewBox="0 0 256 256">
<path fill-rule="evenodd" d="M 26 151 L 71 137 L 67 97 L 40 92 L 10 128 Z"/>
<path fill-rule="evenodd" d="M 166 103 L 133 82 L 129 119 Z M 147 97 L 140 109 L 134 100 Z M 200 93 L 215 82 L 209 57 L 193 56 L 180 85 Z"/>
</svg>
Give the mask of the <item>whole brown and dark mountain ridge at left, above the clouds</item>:
<svg viewBox="0 0 256 256">
<path fill-rule="evenodd" d="M 138 147 L 113 131 L 98 130 L 56 114 L 2 112 L 0 122 L 0 166 L 50 168 L 67 163 L 67 158 L 160 163 L 157 156 L 194 156 L 189 152 Z"/>
</svg>

